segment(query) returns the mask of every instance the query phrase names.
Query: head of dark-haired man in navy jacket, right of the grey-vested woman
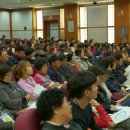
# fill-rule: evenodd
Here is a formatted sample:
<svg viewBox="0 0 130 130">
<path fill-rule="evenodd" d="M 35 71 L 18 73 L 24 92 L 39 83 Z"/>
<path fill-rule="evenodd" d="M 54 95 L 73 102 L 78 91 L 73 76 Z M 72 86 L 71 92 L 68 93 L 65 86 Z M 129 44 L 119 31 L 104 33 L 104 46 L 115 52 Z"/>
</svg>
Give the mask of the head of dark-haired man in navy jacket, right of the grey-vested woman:
<svg viewBox="0 0 130 130">
<path fill-rule="evenodd" d="M 58 69 L 60 67 L 59 57 L 56 54 L 53 54 L 48 57 L 50 67 L 53 69 Z"/>
</svg>

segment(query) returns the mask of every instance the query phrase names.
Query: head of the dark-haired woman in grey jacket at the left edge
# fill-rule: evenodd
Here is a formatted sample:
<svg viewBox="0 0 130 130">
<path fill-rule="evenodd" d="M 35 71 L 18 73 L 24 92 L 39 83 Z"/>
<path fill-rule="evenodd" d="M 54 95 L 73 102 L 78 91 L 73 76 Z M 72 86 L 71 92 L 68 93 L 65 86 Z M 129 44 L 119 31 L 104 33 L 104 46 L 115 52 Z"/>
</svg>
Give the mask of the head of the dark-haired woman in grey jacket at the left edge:
<svg viewBox="0 0 130 130">
<path fill-rule="evenodd" d="M 11 67 L 6 64 L 0 64 L 0 81 L 10 84 L 12 80 Z"/>
</svg>

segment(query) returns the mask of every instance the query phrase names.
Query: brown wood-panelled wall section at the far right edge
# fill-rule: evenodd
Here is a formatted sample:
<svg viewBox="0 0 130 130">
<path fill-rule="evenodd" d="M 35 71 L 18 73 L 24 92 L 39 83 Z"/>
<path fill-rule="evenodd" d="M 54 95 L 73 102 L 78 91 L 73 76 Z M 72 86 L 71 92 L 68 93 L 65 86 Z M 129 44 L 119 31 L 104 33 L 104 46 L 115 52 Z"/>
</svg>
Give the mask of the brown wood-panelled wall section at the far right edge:
<svg viewBox="0 0 130 130">
<path fill-rule="evenodd" d="M 115 42 L 122 43 L 121 27 L 127 29 L 125 42 L 130 42 L 130 0 L 115 0 Z"/>
</svg>

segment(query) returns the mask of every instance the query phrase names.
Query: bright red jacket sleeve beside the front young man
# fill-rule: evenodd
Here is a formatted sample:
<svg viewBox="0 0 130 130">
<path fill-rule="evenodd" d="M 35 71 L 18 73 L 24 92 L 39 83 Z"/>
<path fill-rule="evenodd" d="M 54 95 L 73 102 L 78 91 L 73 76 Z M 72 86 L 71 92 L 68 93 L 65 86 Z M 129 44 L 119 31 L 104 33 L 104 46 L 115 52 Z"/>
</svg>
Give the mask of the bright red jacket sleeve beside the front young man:
<svg viewBox="0 0 130 130">
<path fill-rule="evenodd" d="M 108 128 L 109 122 L 112 121 L 111 117 L 107 115 L 106 111 L 101 105 L 96 107 L 96 110 L 99 114 L 99 117 L 94 113 L 94 120 L 96 121 L 97 125 L 101 128 Z"/>
</svg>

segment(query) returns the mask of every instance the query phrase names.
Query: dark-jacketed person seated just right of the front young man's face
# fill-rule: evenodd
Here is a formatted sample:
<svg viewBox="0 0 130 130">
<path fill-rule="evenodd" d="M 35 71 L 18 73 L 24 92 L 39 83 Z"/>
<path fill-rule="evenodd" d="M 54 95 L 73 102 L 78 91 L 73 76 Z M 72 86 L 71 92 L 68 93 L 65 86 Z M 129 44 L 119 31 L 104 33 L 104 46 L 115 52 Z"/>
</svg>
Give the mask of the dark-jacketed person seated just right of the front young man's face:
<svg viewBox="0 0 130 130">
<path fill-rule="evenodd" d="M 130 106 L 130 94 L 127 94 L 116 102 L 113 101 L 111 97 L 108 98 L 107 93 L 102 86 L 102 83 L 105 83 L 107 80 L 106 72 L 102 68 L 99 66 L 92 66 L 89 68 L 89 71 L 91 71 L 97 77 L 98 94 L 96 100 L 104 107 L 107 112 L 113 112 L 111 111 L 111 109 L 114 107 L 113 105 Z"/>
</svg>

